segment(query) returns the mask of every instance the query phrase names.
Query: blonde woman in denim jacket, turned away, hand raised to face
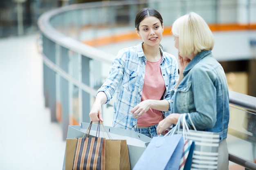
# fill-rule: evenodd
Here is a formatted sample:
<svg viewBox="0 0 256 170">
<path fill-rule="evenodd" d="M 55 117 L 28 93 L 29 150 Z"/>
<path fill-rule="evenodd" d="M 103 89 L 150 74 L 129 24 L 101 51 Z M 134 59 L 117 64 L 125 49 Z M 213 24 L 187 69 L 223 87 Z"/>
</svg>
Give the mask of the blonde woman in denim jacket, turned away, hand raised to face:
<svg viewBox="0 0 256 170">
<path fill-rule="evenodd" d="M 213 33 L 194 12 L 178 18 L 172 33 L 178 49 L 180 79 L 171 93 L 171 115 L 159 122 L 157 133 L 164 134 L 183 113 L 189 113 L 197 130 L 220 134 L 218 170 L 228 170 L 229 91 L 225 72 L 211 53 Z M 193 129 L 188 115 L 186 122 Z"/>
</svg>

